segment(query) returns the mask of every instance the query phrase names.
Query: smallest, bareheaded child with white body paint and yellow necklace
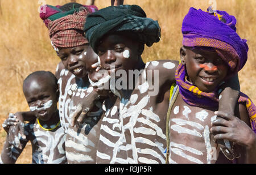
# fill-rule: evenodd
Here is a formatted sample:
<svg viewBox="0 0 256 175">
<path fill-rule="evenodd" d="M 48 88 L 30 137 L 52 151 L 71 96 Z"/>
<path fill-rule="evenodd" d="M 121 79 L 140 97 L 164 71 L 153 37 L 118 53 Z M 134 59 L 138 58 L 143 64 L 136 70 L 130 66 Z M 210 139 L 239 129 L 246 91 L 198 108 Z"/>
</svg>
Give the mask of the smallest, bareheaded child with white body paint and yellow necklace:
<svg viewBox="0 0 256 175">
<path fill-rule="evenodd" d="M 34 114 L 34 121 L 24 126 L 25 136 L 15 138 L 15 142 L 20 145 L 15 147 L 10 143 L 9 135 L 17 130 L 15 125 L 18 121 L 14 115 L 6 119 L 3 128 L 7 135 L 1 154 L 1 163 L 15 163 L 29 141 L 32 144 L 32 163 L 67 163 L 65 134 L 60 125 L 57 109 L 59 90 L 56 77 L 51 72 L 33 72 L 23 82 L 23 93 L 31 113 Z"/>
</svg>

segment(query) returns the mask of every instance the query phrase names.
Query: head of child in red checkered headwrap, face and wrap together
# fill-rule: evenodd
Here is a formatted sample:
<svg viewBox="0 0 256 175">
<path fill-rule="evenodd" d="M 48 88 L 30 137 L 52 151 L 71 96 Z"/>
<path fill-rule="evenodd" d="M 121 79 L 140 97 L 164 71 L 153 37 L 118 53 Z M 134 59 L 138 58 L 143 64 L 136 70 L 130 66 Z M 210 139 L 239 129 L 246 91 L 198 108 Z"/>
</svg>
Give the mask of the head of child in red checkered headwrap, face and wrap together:
<svg viewBox="0 0 256 175">
<path fill-rule="evenodd" d="M 96 6 L 67 3 L 63 6 L 46 5 L 40 14 L 49 29 L 51 44 L 61 58 L 65 69 L 77 78 L 85 78 L 86 51 L 89 47 L 84 36 L 86 15 L 97 10 Z"/>
</svg>

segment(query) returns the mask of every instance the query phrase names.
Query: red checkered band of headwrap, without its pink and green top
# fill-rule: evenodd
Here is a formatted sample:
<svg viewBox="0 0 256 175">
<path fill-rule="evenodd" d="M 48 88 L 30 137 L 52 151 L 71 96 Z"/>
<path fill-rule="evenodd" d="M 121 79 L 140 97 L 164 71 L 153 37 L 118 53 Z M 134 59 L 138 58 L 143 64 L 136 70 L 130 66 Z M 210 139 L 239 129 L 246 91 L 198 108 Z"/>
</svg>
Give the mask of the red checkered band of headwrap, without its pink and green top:
<svg viewBox="0 0 256 175">
<path fill-rule="evenodd" d="M 88 43 L 83 29 L 86 21 L 86 15 L 90 12 L 83 8 L 72 15 L 64 16 L 56 20 L 46 19 L 45 23 L 49 29 L 49 37 L 52 46 L 58 52 L 57 48 L 73 48 Z"/>
</svg>

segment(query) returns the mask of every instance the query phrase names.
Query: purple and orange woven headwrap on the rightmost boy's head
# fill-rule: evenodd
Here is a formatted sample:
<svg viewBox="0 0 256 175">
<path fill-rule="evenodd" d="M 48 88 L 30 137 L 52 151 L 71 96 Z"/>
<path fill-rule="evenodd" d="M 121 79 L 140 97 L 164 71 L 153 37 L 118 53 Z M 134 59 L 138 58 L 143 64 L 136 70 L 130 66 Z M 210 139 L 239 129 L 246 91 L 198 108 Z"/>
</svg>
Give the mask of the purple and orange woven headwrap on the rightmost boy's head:
<svg viewBox="0 0 256 175">
<path fill-rule="evenodd" d="M 236 33 L 236 18 L 225 11 L 204 12 L 191 7 L 182 24 L 183 45 L 211 47 L 230 67 L 230 75 L 247 61 L 246 40 Z"/>
</svg>

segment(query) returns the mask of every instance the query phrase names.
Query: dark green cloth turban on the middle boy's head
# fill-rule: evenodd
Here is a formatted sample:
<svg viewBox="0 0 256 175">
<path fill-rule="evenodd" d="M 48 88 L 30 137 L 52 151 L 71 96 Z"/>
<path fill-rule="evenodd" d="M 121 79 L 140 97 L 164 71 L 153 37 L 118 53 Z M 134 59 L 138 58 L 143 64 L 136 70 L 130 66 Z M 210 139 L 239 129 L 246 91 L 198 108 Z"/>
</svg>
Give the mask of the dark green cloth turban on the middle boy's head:
<svg viewBox="0 0 256 175">
<path fill-rule="evenodd" d="M 142 8 L 137 5 L 110 6 L 89 14 L 84 31 L 96 53 L 98 41 L 110 32 L 134 32 L 138 41 L 147 46 L 160 40 L 158 22 L 147 18 Z"/>
</svg>

